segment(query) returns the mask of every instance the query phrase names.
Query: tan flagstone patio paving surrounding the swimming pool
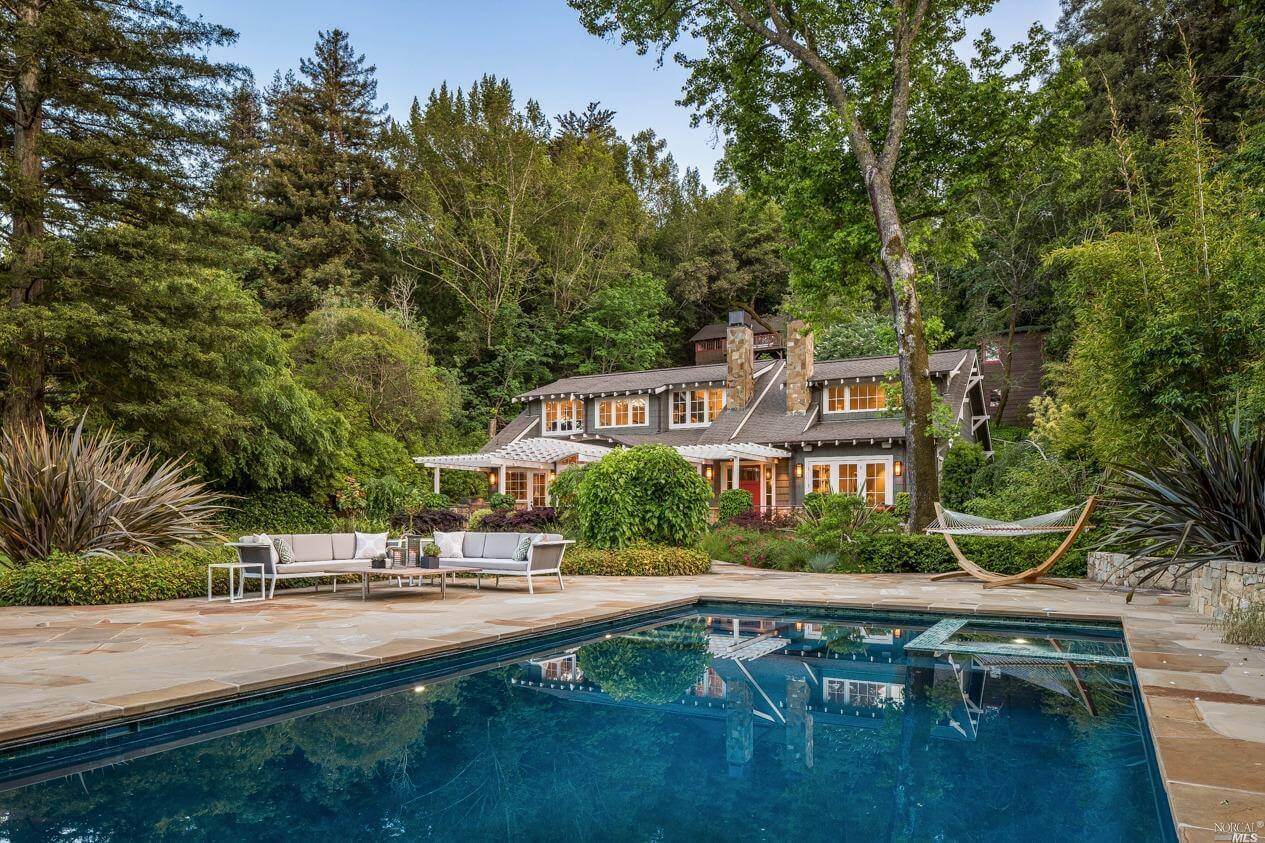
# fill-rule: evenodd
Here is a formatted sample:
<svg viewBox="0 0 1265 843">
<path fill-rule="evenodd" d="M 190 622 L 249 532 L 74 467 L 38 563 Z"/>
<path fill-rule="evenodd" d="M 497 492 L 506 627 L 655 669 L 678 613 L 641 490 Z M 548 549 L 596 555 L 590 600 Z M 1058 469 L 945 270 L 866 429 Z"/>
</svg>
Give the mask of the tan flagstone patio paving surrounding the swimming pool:
<svg viewBox="0 0 1265 843">
<path fill-rule="evenodd" d="M 1083 584 L 996 589 L 906 575 L 807 575 L 717 566 L 703 577 L 569 577 L 567 591 L 382 587 L 263 604 L 0 609 L 0 743 L 229 700 L 478 644 L 691 605 L 1022 615 L 1121 623 L 1183 839 L 1265 824 L 1265 649 L 1222 644 L 1175 595 Z M 1219 825 L 1218 825 L 1219 824 Z M 1265 832 L 1265 827 L 1251 830 Z"/>
</svg>

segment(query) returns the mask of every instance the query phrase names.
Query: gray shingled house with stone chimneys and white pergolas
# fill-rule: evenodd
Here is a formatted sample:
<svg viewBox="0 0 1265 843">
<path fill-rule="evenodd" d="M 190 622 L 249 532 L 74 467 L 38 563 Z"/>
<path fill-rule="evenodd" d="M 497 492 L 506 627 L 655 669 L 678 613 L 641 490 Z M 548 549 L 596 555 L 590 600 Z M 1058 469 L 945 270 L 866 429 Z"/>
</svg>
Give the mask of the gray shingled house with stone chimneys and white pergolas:
<svg viewBox="0 0 1265 843">
<path fill-rule="evenodd" d="M 736 319 L 726 361 L 564 377 L 516 397 L 522 411 L 478 453 L 417 457 L 434 471 L 486 471 L 493 489 L 545 505 L 549 481 L 610 448 L 660 443 L 698 467 L 716 494 L 740 487 L 762 510 L 798 506 L 810 491 L 858 494 L 891 506 L 904 490 L 904 423 L 887 410 L 896 357 L 813 359 L 812 334 L 788 325 L 786 359 L 755 361 Z M 939 392 L 961 435 L 992 449 L 974 349 L 931 354 Z"/>
</svg>

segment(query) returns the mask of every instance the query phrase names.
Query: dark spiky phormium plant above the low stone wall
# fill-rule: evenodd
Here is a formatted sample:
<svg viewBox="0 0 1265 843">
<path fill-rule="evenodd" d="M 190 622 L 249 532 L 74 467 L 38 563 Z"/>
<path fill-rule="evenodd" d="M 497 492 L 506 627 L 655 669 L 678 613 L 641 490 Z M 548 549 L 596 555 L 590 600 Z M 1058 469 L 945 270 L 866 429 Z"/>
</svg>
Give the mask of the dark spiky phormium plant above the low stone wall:
<svg viewBox="0 0 1265 843">
<path fill-rule="evenodd" d="M 1103 494 L 1103 546 L 1130 549 L 1140 585 L 1170 567 L 1265 561 L 1265 429 L 1237 415 L 1180 424 L 1184 435 L 1116 467 Z"/>
</svg>

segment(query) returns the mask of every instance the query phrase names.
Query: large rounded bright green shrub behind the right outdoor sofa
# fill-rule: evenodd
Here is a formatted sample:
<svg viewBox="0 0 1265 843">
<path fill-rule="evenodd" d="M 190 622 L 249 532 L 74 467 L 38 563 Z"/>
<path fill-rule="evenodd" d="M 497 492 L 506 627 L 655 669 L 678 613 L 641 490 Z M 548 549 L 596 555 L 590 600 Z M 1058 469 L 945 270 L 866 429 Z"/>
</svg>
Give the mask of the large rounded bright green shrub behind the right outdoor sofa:
<svg viewBox="0 0 1265 843">
<path fill-rule="evenodd" d="M 689 547 L 707 529 L 710 513 L 707 481 L 659 444 L 614 451 L 589 463 L 576 494 L 578 533 L 593 547 Z"/>
</svg>

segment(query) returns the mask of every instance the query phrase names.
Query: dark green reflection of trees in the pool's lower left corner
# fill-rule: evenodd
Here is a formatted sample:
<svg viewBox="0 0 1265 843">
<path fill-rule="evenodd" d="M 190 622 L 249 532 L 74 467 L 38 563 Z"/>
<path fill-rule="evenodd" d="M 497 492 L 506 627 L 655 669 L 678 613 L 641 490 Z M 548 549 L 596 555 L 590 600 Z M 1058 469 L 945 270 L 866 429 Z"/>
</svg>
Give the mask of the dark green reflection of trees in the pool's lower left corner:
<svg viewBox="0 0 1265 843">
<path fill-rule="evenodd" d="M 372 829 L 347 809 L 387 786 L 428 718 L 397 694 L 3 794 L 0 837 L 361 838 Z"/>
</svg>

